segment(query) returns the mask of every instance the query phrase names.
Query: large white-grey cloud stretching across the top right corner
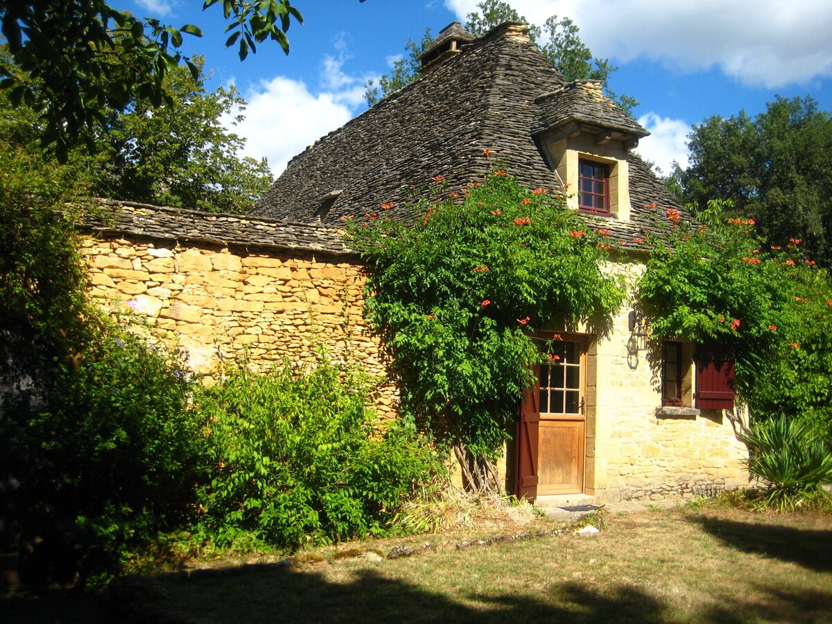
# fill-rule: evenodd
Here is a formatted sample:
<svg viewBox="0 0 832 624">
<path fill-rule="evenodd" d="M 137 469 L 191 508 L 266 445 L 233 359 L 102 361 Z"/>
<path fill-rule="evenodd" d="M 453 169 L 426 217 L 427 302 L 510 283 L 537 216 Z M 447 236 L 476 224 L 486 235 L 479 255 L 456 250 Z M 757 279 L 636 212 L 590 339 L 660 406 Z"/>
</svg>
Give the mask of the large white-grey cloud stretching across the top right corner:
<svg viewBox="0 0 832 624">
<path fill-rule="evenodd" d="M 464 21 L 477 0 L 445 0 Z M 511 0 L 530 22 L 571 17 L 597 57 L 637 57 L 683 72 L 719 67 L 749 86 L 783 87 L 832 77 L 828 0 Z M 600 17 L 600 18 L 599 18 Z"/>
</svg>

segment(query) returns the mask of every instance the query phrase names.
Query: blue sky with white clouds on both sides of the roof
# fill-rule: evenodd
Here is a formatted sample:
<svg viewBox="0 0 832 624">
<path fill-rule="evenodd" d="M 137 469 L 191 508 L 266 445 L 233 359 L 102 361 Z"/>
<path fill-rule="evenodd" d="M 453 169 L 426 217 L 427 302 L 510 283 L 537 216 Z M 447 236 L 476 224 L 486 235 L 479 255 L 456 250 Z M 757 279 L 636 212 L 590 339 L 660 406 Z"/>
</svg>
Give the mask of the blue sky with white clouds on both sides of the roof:
<svg viewBox="0 0 832 624">
<path fill-rule="evenodd" d="M 304 24 L 290 54 L 264 42 L 240 62 L 224 47 L 221 8 L 200 0 L 116 0 L 139 17 L 196 23 L 186 52 L 206 57 L 210 88 L 234 84 L 249 102 L 234 130 L 247 156 L 275 175 L 291 156 L 366 110 L 364 84 L 389 71 L 408 37 L 465 22 L 478 0 L 295 0 Z M 221 3 L 220 3 L 221 4 Z M 638 151 L 667 170 L 686 162 L 691 124 L 765 110 L 775 96 L 811 96 L 832 111 L 829 0 L 513 0 L 529 22 L 571 17 L 597 57 L 619 67 L 612 88 L 641 102 L 634 116 L 652 135 Z M 786 6 L 790 5 L 790 6 Z"/>
</svg>

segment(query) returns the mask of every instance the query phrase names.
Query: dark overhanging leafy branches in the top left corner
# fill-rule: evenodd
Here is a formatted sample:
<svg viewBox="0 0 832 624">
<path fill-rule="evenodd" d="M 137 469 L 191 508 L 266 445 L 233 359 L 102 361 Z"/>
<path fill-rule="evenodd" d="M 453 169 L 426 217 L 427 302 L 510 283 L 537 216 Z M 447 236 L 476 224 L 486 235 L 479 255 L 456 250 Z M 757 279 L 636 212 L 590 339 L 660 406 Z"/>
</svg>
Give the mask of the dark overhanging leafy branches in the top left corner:
<svg viewBox="0 0 832 624">
<path fill-rule="evenodd" d="M 290 0 L 206 0 L 205 8 L 215 4 L 228 22 L 225 45 L 237 45 L 240 59 L 266 39 L 288 53 L 290 20 L 303 22 Z M 182 35 L 200 37 L 199 27 L 141 20 L 104 0 L 0 0 L 0 25 L 12 56 L 0 64 L 0 87 L 13 105 L 25 102 L 39 113 L 42 143 L 53 144 L 61 161 L 107 111 L 123 111 L 136 99 L 154 106 L 168 100 L 165 77 L 180 62 L 195 78 L 199 73 L 180 52 Z"/>
</svg>

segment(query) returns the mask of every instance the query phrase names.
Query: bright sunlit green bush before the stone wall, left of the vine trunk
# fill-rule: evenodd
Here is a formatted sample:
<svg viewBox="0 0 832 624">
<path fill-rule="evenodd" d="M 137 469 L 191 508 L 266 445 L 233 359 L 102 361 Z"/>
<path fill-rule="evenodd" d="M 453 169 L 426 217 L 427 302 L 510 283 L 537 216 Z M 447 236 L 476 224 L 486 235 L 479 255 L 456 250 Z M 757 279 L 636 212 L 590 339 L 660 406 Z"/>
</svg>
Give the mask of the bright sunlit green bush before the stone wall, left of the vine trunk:
<svg viewBox="0 0 832 624">
<path fill-rule="evenodd" d="M 433 450 L 366 409 L 367 379 L 321 359 L 230 372 L 198 399 L 215 476 L 201 489 L 203 526 L 229 545 L 254 535 L 285 548 L 378 534 L 438 468 Z"/>
</svg>

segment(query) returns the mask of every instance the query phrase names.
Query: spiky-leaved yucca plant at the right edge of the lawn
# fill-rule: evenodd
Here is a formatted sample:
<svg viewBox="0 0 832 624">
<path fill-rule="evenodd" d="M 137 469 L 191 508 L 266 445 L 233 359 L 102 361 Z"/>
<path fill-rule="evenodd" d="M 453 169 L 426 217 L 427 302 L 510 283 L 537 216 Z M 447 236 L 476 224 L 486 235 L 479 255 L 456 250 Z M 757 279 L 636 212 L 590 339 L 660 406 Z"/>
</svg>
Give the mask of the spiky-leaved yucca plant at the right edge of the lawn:
<svg viewBox="0 0 832 624">
<path fill-rule="evenodd" d="M 740 439 L 749 448 L 749 472 L 767 484 L 768 506 L 789 511 L 827 496 L 832 453 L 807 423 L 781 415 L 754 423 Z"/>
</svg>

